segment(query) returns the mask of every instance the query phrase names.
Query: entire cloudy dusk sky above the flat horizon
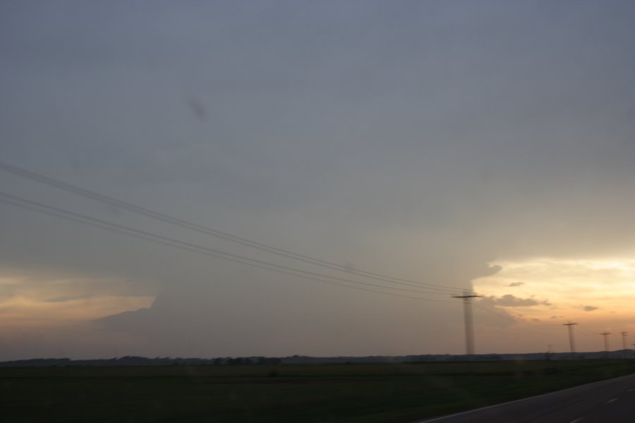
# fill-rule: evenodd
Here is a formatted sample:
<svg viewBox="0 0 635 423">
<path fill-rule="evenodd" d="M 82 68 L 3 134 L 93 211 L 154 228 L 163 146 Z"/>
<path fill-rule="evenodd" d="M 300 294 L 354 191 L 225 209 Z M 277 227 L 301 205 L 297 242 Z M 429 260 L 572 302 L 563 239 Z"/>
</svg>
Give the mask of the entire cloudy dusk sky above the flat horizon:
<svg viewBox="0 0 635 423">
<path fill-rule="evenodd" d="M 633 345 L 634 21 L 1 2 L 0 360 Z"/>
</svg>

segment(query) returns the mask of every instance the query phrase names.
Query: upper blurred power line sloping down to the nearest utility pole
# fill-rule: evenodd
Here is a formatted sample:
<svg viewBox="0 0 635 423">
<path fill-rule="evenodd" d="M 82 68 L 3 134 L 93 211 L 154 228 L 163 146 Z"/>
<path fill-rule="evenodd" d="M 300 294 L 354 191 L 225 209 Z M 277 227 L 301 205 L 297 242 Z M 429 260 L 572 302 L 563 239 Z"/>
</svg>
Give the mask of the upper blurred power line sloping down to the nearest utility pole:
<svg viewBox="0 0 635 423">
<path fill-rule="evenodd" d="M 90 198 L 92 200 L 96 200 L 98 202 L 103 202 L 106 204 L 110 204 L 111 206 L 115 206 L 115 207 L 121 207 L 123 209 L 127 209 L 131 212 L 135 212 L 138 214 L 142 214 L 143 216 L 147 216 L 147 217 L 151 217 L 153 219 L 157 219 L 160 221 L 164 221 L 167 223 L 171 223 L 173 225 L 176 226 L 181 226 L 183 228 L 188 228 L 191 231 L 195 231 L 195 232 L 199 232 L 199 233 L 205 233 L 207 235 L 212 235 L 215 236 L 217 238 L 222 238 L 224 240 L 229 240 L 231 242 L 234 243 L 238 243 L 241 245 L 246 245 L 248 247 L 253 247 L 253 248 L 257 248 L 258 250 L 263 250 L 263 251 L 267 251 L 270 252 L 272 254 L 276 254 L 276 255 L 280 255 L 282 257 L 286 257 L 286 258 L 290 258 L 290 259 L 295 259 L 301 262 L 306 262 L 309 264 L 314 264 L 317 266 L 322 266 L 322 267 L 326 267 L 328 269 L 333 269 L 333 270 L 337 270 L 337 271 L 343 271 L 346 272 L 348 274 L 354 274 L 357 276 L 364 276 L 366 278 L 373 278 L 375 280 L 378 281 L 384 281 L 384 282 L 389 282 L 389 283 L 397 283 L 397 284 L 401 284 L 401 285 L 406 285 L 406 286 L 413 286 L 412 284 L 414 284 L 414 286 L 423 286 L 425 288 L 431 289 L 431 290 L 440 290 L 440 291 L 444 291 L 446 293 L 456 293 L 457 290 L 460 290 L 461 288 L 452 288 L 452 287 L 447 287 L 447 286 L 441 286 L 441 285 L 436 285 L 434 283 L 425 283 L 425 282 L 418 282 L 418 281 L 413 281 L 411 279 L 405 279 L 405 278 L 397 278 L 394 276 L 387 276 L 387 275 L 383 275 L 383 274 L 378 274 L 372 271 L 364 271 L 364 270 L 360 270 L 360 269 L 349 269 L 346 266 L 342 266 L 341 264 L 337 264 L 337 263 L 333 263 L 333 262 L 327 262 L 326 260 L 322 260 L 322 259 L 316 259 L 315 257 L 310 257 L 307 255 L 301 255 L 297 252 L 291 252 L 289 250 L 283 250 L 282 248 L 277 248 L 277 247 L 273 247 L 272 245 L 267 245 L 264 243 L 258 243 L 257 241 L 254 240 L 250 240 L 248 238 L 242 238 L 242 237 L 238 237 L 236 235 L 231 235 L 231 233 L 226 233 L 226 232 L 222 232 L 222 231 L 217 231 L 216 229 L 213 228 L 209 228 L 207 226 L 202 226 L 198 223 L 192 223 L 189 221 L 185 221 L 183 219 L 179 219 L 176 218 L 174 216 L 169 216 L 167 214 L 163 214 L 163 213 L 159 213 L 159 212 L 155 212 L 151 209 L 147 209 L 145 207 L 141 207 L 129 202 L 124 202 L 122 200 L 118 200 L 114 197 L 109 197 L 107 195 L 102 195 L 99 194 L 99 192 L 95 192 L 92 190 L 87 190 L 85 188 L 80 188 L 78 186 L 75 185 L 71 185 L 69 183 L 65 183 L 62 182 L 61 180 L 56 180 L 54 178 L 50 178 L 48 176 L 44 176 L 41 175 L 40 173 L 35 173 L 32 171 L 28 171 L 26 169 L 23 168 L 18 168 L 16 166 L 12 166 L 10 164 L 5 164 L 0 162 L 0 171 L 4 171 L 7 173 L 11 173 L 13 175 L 16 176 L 21 176 L 23 178 L 28 178 L 30 180 L 35 180 L 39 183 L 43 183 L 44 185 L 49 185 L 55 188 L 59 188 L 61 190 L 65 190 L 67 192 L 71 192 L 75 195 L 80 195 L 82 197 L 87 197 Z"/>
</svg>

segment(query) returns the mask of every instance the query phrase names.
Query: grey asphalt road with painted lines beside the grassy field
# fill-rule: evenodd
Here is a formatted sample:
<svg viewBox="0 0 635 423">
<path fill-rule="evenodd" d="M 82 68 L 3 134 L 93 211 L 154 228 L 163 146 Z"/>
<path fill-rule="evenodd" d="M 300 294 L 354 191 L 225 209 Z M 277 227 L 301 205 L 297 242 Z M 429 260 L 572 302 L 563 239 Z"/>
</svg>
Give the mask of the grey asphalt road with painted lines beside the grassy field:
<svg viewBox="0 0 635 423">
<path fill-rule="evenodd" d="M 635 374 L 423 422 L 633 423 Z"/>
</svg>

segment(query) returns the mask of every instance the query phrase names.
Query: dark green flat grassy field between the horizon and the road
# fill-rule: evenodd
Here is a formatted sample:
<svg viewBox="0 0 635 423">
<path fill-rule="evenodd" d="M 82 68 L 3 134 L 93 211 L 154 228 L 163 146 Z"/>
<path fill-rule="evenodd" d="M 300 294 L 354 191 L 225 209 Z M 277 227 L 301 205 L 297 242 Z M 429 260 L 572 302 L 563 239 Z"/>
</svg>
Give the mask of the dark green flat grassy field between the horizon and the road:
<svg viewBox="0 0 635 423">
<path fill-rule="evenodd" d="M 412 422 L 635 372 L 635 360 L 4 367 L 2 422 Z"/>
</svg>

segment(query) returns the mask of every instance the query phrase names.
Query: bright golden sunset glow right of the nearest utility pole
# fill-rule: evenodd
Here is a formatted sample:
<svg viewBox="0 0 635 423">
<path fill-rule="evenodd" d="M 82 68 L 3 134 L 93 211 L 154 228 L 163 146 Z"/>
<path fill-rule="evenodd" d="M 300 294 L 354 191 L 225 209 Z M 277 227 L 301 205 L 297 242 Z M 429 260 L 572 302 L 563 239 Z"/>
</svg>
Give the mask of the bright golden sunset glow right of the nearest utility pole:
<svg viewBox="0 0 635 423">
<path fill-rule="evenodd" d="M 497 261 L 501 270 L 473 281 L 485 297 L 532 299 L 537 304 L 497 308 L 544 321 L 580 320 L 594 324 L 635 316 L 635 260 L 528 259 Z"/>
</svg>

